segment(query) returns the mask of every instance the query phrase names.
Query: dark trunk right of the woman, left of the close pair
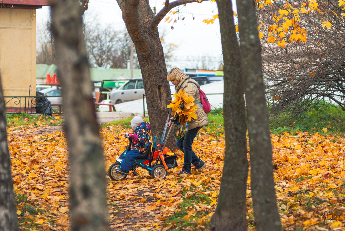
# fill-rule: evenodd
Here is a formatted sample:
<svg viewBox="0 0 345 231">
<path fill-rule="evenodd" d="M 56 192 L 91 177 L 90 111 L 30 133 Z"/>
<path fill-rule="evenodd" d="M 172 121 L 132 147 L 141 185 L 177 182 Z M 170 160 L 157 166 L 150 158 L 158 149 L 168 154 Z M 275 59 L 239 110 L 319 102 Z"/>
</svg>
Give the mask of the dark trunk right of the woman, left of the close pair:
<svg viewBox="0 0 345 231">
<path fill-rule="evenodd" d="M 231 0 L 217 0 L 224 58 L 225 156 L 223 176 L 212 231 L 247 230 L 246 189 L 248 176 L 246 115 Z"/>
</svg>

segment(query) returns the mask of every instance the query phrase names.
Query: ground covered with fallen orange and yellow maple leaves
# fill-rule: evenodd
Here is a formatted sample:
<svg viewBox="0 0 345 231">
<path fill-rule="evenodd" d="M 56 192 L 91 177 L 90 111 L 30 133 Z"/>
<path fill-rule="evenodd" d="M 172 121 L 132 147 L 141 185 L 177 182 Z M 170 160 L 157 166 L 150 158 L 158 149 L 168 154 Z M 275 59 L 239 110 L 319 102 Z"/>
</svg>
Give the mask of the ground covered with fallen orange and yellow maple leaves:
<svg viewBox="0 0 345 231">
<path fill-rule="evenodd" d="M 101 130 L 105 175 L 127 140 L 123 127 Z M 278 207 L 283 230 L 345 230 L 344 138 L 298 133 L 273 135 Z M 68 169 L 62 126 L 8 127 L 12 177 L 21 230 L 68 230 Z M 146 170 L 124 181 L 108 176 L 111 230 L 209 230 L 219 193 L 224 136 L 201 130 L 194 143 L 207 163 L 202 172 L 180 177 L 183 162 L 165 180 Z M 248 178 L 248 230 L 255 229 Z M 324 215 L 326 214 L 326 215 Z M 327 217 L 326 217 L 327 216 Z M 325 222 L 327 220 L 327 222 Z"/>
</svg>

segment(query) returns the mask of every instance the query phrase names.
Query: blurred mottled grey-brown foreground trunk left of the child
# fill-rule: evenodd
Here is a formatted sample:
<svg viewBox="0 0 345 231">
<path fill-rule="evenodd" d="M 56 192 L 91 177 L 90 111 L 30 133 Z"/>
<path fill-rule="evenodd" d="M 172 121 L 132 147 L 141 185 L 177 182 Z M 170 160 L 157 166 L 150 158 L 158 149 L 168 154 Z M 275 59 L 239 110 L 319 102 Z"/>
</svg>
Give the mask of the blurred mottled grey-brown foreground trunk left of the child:
<svg viewBox="0 0 345 231">
<path fill-rule="evenodd" d="M 108 230 L 102 140 L 78 0 L 51 0 L 58 74 L 69 148 L 71 230 Z"/>
</svg>

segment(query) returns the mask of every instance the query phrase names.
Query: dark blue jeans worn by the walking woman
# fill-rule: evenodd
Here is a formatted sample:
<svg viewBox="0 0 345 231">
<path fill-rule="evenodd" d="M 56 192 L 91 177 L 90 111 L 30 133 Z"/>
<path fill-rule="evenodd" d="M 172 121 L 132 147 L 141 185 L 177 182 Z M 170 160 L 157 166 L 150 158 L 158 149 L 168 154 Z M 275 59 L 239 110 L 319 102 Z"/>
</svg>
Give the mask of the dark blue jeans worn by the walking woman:
<svg viewBox="0 0 345 231">
<path fill-rule="evenodd" d="M 197 165 L 200 162 L 200 158 L 198 158 L 192 150 L 194 138 L 198 134 L 200 128 L 201 127 L 196 127 L 188 130 L 182 138 L 176 141 L 176 146 L 184 153 L 185 163 L 182 168 L 187 172 L 190 172 L 192 164 Z"/>
</svg>

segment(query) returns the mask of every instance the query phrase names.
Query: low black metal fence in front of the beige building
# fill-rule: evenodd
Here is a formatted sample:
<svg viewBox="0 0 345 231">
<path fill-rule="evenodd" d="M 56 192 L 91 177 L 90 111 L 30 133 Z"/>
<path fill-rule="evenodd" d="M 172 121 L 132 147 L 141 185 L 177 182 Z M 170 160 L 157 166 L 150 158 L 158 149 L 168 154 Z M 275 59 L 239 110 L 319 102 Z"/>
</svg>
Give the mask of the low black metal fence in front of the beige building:
<svg viewBox="0 0 345 231">
<path fill-rule="evenodd" d="M 5 107 L 7 113 L 20 114 L 20 113 L 29 113 L 29 114 L 41 114 L 36 112 L 36 102 L 38 98 L 42 96 L 4 96 Z M 54 96 L 45 96 L 48 100 L 50 97 Z M 62 104 L 51 104 L 52 113 L 62 114 Z"/>
</svg>

